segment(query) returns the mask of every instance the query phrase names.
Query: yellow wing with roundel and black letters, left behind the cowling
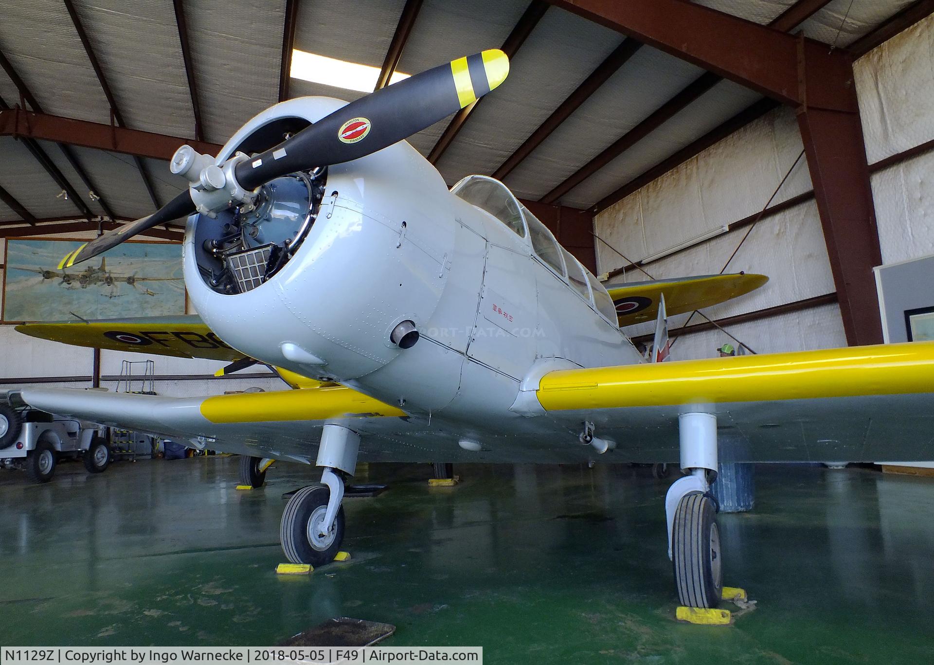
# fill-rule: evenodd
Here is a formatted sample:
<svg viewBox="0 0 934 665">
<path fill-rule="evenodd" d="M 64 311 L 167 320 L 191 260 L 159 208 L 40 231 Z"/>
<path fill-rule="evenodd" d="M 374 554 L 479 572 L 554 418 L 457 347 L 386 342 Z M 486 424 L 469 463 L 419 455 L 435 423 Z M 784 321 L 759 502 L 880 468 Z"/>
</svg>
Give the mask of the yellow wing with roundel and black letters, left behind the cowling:
<svg viewBox="0 0 934 665">
<path fill-rule="evenodd" d="M 16 331 L 76 347 L 211 361 L 237 361 L 244 357 L 220 341 L 196 315 L 23 323 Z"/>
</svg>

